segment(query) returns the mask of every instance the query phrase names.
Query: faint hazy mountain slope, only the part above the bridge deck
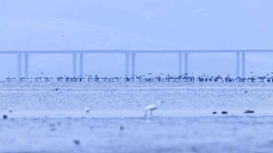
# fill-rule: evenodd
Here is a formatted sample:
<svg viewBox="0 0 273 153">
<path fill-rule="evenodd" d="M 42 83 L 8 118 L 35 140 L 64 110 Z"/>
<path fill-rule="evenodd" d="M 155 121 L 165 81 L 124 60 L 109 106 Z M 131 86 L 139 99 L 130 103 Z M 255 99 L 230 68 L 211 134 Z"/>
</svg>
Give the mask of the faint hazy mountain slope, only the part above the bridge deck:
<svg viewBox="0 0 273 153">
<path fill-rule="evenodd" d="M 47 49 L 162 49 L 164 41 L 62 19 L 12 20 L 1 26 L 1 50 Z"/>
</svg>

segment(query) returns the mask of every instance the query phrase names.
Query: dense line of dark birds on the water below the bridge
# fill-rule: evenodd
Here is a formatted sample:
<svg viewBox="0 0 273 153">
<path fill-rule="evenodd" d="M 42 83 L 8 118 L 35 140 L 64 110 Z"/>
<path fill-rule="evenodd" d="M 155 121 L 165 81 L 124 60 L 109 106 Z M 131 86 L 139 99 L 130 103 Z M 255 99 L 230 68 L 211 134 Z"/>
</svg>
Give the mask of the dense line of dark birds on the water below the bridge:
<svg viewBox="0 0 273 153">
<path fill-rule="evenodd" d="M 253 73 L 253 72 L 251 72 Z M 43 74 L 43 73 L 42 73 Z M 184 75 L 174 76 L 174 75 L 164 75 L 160 73 L 160 75 L 154 76 L 152 73 L 148 73 L 147 75 L 131 75 L 125 77 L 99 77 L 98 75 L 85 75 L 78 77 L 68 77 L 66 75 L 62 77 L 36 77 L 36 78 L 21 78 L 20 81 L 60 81 L 60 82 L 273 82 L 273 72 L 271 75 L 267 73 L 264 76 L 253 75 L 248 78 L 232 78 L 230 74 L 226 77 L 221 77 L 221 75 L 210 76 L 206 73 L 194 77 L 195 73 L 190 75 L 189 73 L 185 73 Z M 6 78 L 7 81 L 16 81 L 16 78 Z"/>
</svg>

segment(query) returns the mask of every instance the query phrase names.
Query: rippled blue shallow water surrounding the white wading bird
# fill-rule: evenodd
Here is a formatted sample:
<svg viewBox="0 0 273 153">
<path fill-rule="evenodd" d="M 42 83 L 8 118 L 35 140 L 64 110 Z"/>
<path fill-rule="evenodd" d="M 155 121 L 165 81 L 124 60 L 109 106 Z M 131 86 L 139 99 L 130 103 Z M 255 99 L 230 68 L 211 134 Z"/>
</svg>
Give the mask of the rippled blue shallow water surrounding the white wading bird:
<svg viewBox="0 0 273 153">
<path fill-rule="evenodd" d="M 0 152 L 273 150 L 270 83 L 1 82 L 0 88 L 0 114 L 9 117 L 0 120 Z M 142 118 L 158 100 L 165 104 L 154 117 Z M 244 114 L 246 107 L 255 113 Z"/>
</svg>

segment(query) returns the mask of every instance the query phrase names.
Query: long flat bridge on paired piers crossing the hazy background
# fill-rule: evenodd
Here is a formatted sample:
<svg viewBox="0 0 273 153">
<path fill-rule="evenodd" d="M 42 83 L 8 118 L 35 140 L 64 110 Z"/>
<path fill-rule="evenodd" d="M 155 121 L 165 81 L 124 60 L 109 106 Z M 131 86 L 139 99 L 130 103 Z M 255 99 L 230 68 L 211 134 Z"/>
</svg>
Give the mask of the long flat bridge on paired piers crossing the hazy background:
<svg viewBox="0 0 273 153">
<path fill-rule="evenodd" d="M 236 77 L 245 78 L 246 73 L 246 53 L 272 53 L 273 49 L 249 49 L 249 50 L 5 50 L 0 54 L 17 54 L 17 80 L 22 77 L 22 54 L 24 55 L 24 77 L 28 78 L 28 58 L 30 54 L 71 54 L 73 77 L 77 76 L 77 54 L 79 54 L 79 73 L 83 76 L 83 55 L 84 54 L 124 54 L 125 57 L 125 75 L 129 76 L 129 58 L 131 58 L 131 74 L 135 74 L 135 57 L 136 54 L 145 53 L 171 53 L 177 54 L 178 75 L 188 73 L 189 55 L 191 53 L 233 53 L 236 58 L 235 74 Z M 183 60 L 184 56 L 184 60 Z M 241 58 L 241 60 L 240 60 Z M 184 64 L 183 64 L 184 61 Z M 240 74 L 240 62 L 242 65 Z M 184 65 L 184 71 L 183 71 Z"/>
</svg>

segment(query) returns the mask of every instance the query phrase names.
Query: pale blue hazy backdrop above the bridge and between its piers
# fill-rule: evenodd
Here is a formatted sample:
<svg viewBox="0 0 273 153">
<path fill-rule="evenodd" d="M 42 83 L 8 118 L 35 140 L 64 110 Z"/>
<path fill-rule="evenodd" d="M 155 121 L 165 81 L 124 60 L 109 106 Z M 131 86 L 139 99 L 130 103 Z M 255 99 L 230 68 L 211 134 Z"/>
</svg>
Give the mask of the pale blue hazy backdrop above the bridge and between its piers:
<svg viewBox="0 0 273 153">
<path fill-rule="evenodd" d="M 0 50 L 272 49 L 272 1 L 0 2 Z M 247 54 L 250 71 L 271 71 L 272 54 Z M 15 76 L 16 56 L 1 55 L 1 78 Z M 123 55 L 87 55 L 86 73 L 122 75 Z M 30 75 L 71 74 L 71 56 L 30 56 Z M 234 54 L 190 55 L 191 72 L 234 74 Z M 9 64 L 5 64 L 9 63 Z M 205 64 L 204 64 L 205 63 Z M 177 56 L 137 55 L 137 73 L 177 74 Z"/>
</svg>

